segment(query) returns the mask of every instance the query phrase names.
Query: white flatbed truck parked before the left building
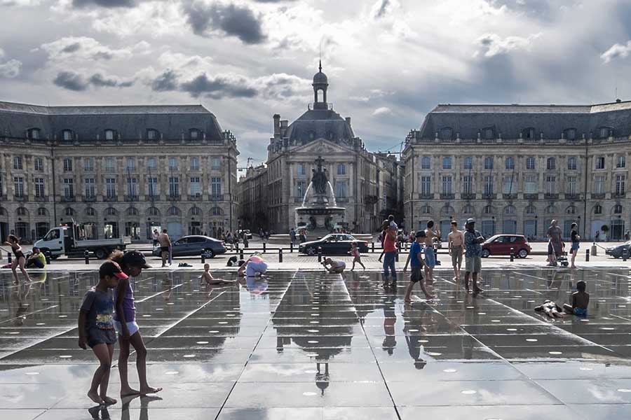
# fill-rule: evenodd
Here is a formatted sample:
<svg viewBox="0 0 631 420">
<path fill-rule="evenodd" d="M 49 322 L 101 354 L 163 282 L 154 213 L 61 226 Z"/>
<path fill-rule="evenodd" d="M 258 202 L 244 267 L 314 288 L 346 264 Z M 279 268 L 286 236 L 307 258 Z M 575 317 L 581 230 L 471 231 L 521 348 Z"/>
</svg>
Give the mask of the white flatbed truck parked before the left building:
<svg viewBox="0 0 631 420">
<path fill-rule="evenodd" d="M 125 249 L 131 244 L 131 237 L 112 239 L 81 239 L 79 225 L 60 226 L 48 231 L 46 236 L 36 241 L 34 246 L 46 253 L 50 252 L 51 258 L 60 255 L 69 257 L 83 257 L 88 251 L 99 260 L 107 258 L 107 255 L 115 249 Z"/>
</svg>

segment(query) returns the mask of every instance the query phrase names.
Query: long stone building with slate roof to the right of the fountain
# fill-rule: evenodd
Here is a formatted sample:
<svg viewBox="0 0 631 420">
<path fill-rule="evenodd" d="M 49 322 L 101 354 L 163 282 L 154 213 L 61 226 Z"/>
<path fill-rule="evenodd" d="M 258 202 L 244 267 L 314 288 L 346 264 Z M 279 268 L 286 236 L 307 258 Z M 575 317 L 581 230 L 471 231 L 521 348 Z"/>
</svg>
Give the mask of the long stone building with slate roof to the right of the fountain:
<svg viewBox="0 0 631 420">
<path fill-rule="evenodd" d="M 483 235 L 621 239 L 631 223 L 626 181 L 631 102 L 438 105 L 405 139 L 405 220 L 477 220 Z M 605 227 L 605 228 L 604 228 Z"/>
</svg>

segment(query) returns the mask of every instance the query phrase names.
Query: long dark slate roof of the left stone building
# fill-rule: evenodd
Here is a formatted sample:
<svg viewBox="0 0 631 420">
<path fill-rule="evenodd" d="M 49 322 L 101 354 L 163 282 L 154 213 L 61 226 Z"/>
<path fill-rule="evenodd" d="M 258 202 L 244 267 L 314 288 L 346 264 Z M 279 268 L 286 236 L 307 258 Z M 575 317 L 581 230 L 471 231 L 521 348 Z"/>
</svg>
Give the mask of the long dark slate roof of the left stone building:
<svg viewBox="0 0 631 420">
<path fill-rule="evenodd" d="M 0 102 L 0 134 L 24 137 L 31 128 L 41 130 L 41 139 L 62 139 L 62 130 L 72 130 L 79 141 L 104 139 L 105 130 L 115 130 L 121 139 L 146 139 L 148 129 L 164 139 L 188 137 L 189 130 L 205 132 L 208 141 L 221 142 L 217 118 L 202 105 L 133 106 L 39 106 Z"/>
</svg>

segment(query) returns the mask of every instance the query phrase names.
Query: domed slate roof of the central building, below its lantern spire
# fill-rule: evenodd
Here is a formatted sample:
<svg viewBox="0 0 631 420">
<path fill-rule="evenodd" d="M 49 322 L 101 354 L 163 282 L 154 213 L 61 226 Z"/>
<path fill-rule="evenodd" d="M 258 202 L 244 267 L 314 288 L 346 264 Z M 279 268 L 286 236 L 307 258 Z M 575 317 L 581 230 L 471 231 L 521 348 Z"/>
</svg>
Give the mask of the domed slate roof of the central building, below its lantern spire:
<svg viewBox="0 0 631 420">
<path fill-rule="evenodd" d="M 311 137 L 313 133 L 313 137 Z M 296 141 L 354 139 L 350 124 L 332 109 L 310 109 L 287 127 L 285 137 Z"/>
</svg>

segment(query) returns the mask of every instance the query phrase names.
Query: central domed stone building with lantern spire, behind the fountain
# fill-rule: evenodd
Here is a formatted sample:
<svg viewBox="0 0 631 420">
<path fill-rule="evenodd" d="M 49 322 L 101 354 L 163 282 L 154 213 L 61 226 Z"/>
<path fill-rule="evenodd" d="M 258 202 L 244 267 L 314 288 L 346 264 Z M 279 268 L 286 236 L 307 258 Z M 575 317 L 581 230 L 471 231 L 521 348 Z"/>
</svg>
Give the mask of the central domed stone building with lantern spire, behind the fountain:
<svg viewBox="0 0 631 420">
<path fill-rule="evenodd" d="M 328 86 L 320 65 L 313 76 L 313 104 L 291 124 L 278 114 L 273 116 L 266 167 L 248 172 L 240 182 L 242 191 L 252 190 L 252 183 L 266 183 L 260 189 L 266 195 L 266 218 L 252 218 L 247 214 L 252 209 L 242 206 L 240 220 L 245 228 L 286 233 L 295 227 L 294 210 L 302 204 L 318 156 L 325 160 L 337 205 L 346 208 L 343 223 L 353 232 L 373 232 L 384 215 L 397 213 L 397 160 L 366 150 L 355 136 L 351 118 L 342 118 L 327 102 Z"/>
</svg>

